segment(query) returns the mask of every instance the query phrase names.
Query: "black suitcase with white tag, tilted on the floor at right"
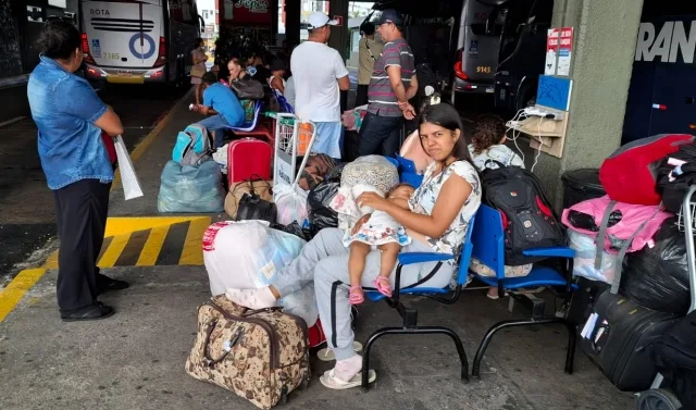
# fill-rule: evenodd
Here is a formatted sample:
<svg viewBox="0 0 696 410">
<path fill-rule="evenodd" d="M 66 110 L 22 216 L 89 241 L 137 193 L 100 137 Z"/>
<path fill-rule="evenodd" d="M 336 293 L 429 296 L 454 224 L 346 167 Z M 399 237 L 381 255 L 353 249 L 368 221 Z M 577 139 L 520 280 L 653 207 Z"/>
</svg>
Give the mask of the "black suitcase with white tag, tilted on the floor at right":
<svg viewBox="0 0 696 410">
<path fill-rule="evenodd" d="M 657 369 L 648 345 L 679 320 L 669 313 L 643 308 L 605 291 L 595 302 L 595 326 L 591 318 L 579 326 L 580 348 L 623 392 L 650 388 Z M 584 335 L 584 336 L 583 336 Z"/>
</svg>

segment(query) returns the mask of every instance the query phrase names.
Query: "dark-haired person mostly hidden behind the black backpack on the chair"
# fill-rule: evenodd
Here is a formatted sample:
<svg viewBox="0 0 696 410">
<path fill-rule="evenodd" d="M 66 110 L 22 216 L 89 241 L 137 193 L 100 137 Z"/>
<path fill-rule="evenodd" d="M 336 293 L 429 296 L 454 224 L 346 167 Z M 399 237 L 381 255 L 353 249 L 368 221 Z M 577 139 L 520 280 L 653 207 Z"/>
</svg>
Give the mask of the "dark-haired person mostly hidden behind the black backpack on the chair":
<svg viewBox="0 0 696 410">
<path fill-rule="evenodd" d="M 485 169 L 496 170 L 500 165 L 524 167 L 524 161 L 510 147 L 505 145 L 505 121 L 498 115 L 486 114 L 481 116 L 473 127 L 469 153 L 478 171 Z M 476 258 L 471 258 L 471 270 L 482 276 L 495 276 L 495 272 L 481 263 Z M 532 263 L 520 266 L 505 266 L 506 277 L 526 276 L 532 271 Z M 498 299 L 498 287 L 488 288 L 488 298 Z"/>
</svg>

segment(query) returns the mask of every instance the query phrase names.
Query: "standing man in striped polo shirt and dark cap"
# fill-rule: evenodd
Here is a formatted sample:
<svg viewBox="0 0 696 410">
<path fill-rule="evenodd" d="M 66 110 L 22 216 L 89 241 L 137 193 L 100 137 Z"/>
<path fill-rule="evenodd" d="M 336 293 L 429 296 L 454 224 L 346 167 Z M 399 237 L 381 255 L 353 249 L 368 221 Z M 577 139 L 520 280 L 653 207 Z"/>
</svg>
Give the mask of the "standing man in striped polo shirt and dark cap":
<svg viewBox="0 0 696 410">
<path fill-rule="evenodd" d="M 375 23 L 385 42 L 368 89 L 368 114 L 360 127 L 360 156 L 393 156 L 401 144 L 402 117 L 412 120 L 409 100 L 418 91 L 413 52 L 403 39 L 403 20 L 385 10 Z"/>
</svg>

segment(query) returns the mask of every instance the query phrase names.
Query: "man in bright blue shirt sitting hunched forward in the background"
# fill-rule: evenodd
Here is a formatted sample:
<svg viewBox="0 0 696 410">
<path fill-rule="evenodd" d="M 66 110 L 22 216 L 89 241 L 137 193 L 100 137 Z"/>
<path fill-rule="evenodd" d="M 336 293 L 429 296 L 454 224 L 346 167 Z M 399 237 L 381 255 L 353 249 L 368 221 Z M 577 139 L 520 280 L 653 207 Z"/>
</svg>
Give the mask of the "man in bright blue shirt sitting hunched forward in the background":
<svg viewBox="0 0 696 410">
<path fill-rule="evenodd" d="M 212 115 L 198 124 L 213 133 L 214 148 L 222 147 L 226 128 L 244 125 L 245 113 L 237 96 L 210 72 L 203 75 L 203 104 L 195 107 L 194 111 Z"/>
</svg>

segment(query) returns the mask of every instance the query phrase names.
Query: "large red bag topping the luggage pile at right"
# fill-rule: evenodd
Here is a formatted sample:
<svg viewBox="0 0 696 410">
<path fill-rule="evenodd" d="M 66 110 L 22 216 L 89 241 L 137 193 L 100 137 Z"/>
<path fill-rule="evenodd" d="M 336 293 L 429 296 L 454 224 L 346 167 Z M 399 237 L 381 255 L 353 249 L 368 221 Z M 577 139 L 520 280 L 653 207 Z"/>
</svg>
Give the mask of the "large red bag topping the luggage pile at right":
<svg viewBox="0 0 696 410">
<path fill-rule="evenodd" d="M 601 163 L 599 182 L 614 201 L 659 204 L 662 199 L 657 191 L 657 165 L 694 138 L 687 134 L 662 134 L 629 142 Z"/>
</svg>

